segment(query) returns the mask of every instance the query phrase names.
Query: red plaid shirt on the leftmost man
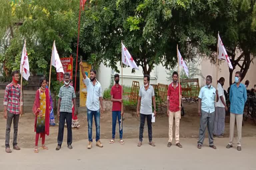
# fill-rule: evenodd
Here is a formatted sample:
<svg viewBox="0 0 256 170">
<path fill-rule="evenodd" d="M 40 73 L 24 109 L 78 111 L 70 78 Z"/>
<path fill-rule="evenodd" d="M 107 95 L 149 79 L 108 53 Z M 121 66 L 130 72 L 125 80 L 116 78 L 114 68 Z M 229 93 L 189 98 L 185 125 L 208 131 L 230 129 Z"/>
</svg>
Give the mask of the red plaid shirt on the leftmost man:
<svg viewBox="0 0 256 170">
<path fill-rule="evenodd" d="M 5 88 L 4 105 L 7 106 L 7 111 L 12 114 L 20 114 L 20 85 L 17 87 L 10 83 Z"/>
</svg>

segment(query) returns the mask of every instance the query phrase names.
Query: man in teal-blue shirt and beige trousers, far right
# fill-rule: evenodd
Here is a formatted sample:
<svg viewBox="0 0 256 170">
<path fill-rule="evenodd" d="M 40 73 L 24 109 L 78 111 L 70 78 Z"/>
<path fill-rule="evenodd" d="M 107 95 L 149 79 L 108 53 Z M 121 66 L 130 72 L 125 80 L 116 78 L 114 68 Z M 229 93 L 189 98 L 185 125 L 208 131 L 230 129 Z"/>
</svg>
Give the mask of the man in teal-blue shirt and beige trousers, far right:
<svg viewBox="0 0 256 170">
<path fill-rule="evenodd" d="M 235 83 L 230 86 L 229 101 L 230 101 L 230 131 L 229 143 L 226 148 L 233 147 L 235 120 L 237 126 L 237 150 L 241 151 L 242 138 L 242 122 L 244 105 L 247 100 L 247 92 L 244 84 L 241 83 L 242 73 L 237 71 L 235 74 Z"/>
</svg>

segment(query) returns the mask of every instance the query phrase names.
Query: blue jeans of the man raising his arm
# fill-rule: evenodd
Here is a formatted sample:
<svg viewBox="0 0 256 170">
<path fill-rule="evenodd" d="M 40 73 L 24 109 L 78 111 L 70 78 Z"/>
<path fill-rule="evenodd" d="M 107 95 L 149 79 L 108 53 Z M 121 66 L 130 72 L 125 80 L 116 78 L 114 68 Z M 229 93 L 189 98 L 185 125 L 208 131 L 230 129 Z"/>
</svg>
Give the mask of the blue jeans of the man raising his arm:
<svg viewBox="0 0 256 170">
<path fill-rule="evenodd" d="M 87 108 L 88 139 L 92 142 L 92 119 L 94 115 L 96 127 L 96 141 L 100 139 L 100 110 L 92 111 Z"/>
</svg>

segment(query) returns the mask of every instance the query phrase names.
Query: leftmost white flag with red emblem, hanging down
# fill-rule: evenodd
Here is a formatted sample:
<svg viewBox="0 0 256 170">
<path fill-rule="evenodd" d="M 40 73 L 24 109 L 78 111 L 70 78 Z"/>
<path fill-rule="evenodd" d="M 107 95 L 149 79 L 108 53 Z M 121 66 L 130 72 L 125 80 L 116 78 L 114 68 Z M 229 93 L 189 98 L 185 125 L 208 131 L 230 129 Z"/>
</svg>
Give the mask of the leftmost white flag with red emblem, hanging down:
<svg viewBox="0 0 256 170">
<path fill-rule="evenodd" d="M 23 65 L 23 71 L 22 71 L 22 65 Z M 20 74 L 22 74 L 22 77 L 24 77 L 26 80 L 28 80 L 28 78 L 30 76 L 26 43 L 24 43 L 23 50 L 22 50 L 22 55 L 21 55 Z"/>
</svg>

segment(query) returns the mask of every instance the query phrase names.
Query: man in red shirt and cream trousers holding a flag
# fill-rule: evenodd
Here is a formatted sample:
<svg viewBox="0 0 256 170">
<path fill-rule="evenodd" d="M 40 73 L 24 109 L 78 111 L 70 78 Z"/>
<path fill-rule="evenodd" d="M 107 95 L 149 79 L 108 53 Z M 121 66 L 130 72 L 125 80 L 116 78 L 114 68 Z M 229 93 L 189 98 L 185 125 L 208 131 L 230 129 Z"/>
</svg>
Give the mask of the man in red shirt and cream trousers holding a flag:
<svg viewBox="0 0 256 170">
<path fill-rule="evenodd" d="M 172 73 L 173 82 L 168 86 L 167 92 L 167 116 L 169 116 L 169 141 L 167 147 L 171 147 L 172 145 L 172 125 L 173 125 L 173 116 L 175 117 L 175 141 L 176 145 L 182 148 L 180 144 L 180 98 L 181 97 L 181 86 L 177 83 L 178 81 L 178 73 L 174 71 Z M 180 88 L 180 96 L 179 96 L 179 88 Z"/>
</svg>

